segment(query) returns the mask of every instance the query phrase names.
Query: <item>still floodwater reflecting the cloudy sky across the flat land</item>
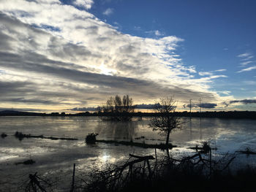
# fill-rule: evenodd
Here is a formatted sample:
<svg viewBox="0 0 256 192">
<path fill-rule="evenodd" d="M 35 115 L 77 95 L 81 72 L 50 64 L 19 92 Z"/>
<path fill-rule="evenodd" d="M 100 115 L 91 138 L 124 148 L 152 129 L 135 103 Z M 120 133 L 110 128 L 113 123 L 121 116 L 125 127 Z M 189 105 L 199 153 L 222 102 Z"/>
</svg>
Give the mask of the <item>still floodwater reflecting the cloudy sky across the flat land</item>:
<svg viewBox="0 0 256 192">
<path fill-rule="evenodd" d="M 188 147 L 208 141 L 217 147 L 213 154 L 236 153 L 246 147 L 256 151 L 256 120 L 219 118 L 182 118 L 181 129 L 170 134 L 174 147 L 170 154 L 176 158 L 195 153 Z M 121 164 L 129 153 L 154 155 L 154 149 L 124 145 L 97 143 L 86 145 L 89 133 L 98 133 L 97 139 L 119 141 L 164 143 L 165 137 L 148 127 L 149 118 L 133 119 L 128 123 L 102 121 L 97 117 L 0 117 L 0 191 L 14 191 L 22 187 L 30 173 L 38 172 L 43 177 L 54 178 L 63 183 L 59 191 L 67 191 L 72 181 L 72 166 L 76 164 L 77 177 L 86 177 L 92 169 L 104 169 L 106 164 Z M 13 134 L 41 135 L 45 137 L 75 137 L 78 140 L 51 140 L 39 138 L 16 139 Z M 165 155 L 157 150 L 161 158 Z M 256 155 L 236 154 L 234 166 L 255 166 Z M 16 164 L 33 159 L 32 165 Z M 59 185 L 58 185 L 59 186 Z"/>
</svg>

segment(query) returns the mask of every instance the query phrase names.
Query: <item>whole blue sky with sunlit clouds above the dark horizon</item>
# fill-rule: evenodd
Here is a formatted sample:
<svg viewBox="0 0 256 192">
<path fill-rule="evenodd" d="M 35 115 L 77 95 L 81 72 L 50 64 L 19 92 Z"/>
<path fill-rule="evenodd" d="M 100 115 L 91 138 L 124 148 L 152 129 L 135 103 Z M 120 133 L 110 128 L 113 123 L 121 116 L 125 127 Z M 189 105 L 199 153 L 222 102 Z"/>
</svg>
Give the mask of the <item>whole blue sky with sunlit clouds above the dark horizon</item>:
<svg viewBox="0 0 256 192">
<path fill-rule="evenodd" d="M 254 0 L 0 0 L 0 110 L 256 110 Z"/>
</svg>

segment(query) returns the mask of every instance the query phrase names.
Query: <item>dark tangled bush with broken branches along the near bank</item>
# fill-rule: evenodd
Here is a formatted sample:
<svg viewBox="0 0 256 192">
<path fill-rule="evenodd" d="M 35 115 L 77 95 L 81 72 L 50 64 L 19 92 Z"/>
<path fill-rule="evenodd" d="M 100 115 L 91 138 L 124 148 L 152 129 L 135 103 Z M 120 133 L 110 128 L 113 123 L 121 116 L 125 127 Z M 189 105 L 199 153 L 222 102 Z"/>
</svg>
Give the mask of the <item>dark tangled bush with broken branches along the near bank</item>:
<svg viewBox="0 0 256 192">
<path fill-rule="evenodd" d="M 134 156 L 137 158 L 131 161 Z M 154 158 L 151 157 L 132 155 L 123 166 L 108 166 L 103 171 L 94 171 L 83 191 L 216 192 L 255 191 L 256 188 L 255 169 L 248 167 L 231 173 L 228 166 L 234 157 L 229 155 L 217 161 L 209 161 L 202 153 L 181 160 L 165 158 L 158 162 L 152 161 Z"/>
</svg>

